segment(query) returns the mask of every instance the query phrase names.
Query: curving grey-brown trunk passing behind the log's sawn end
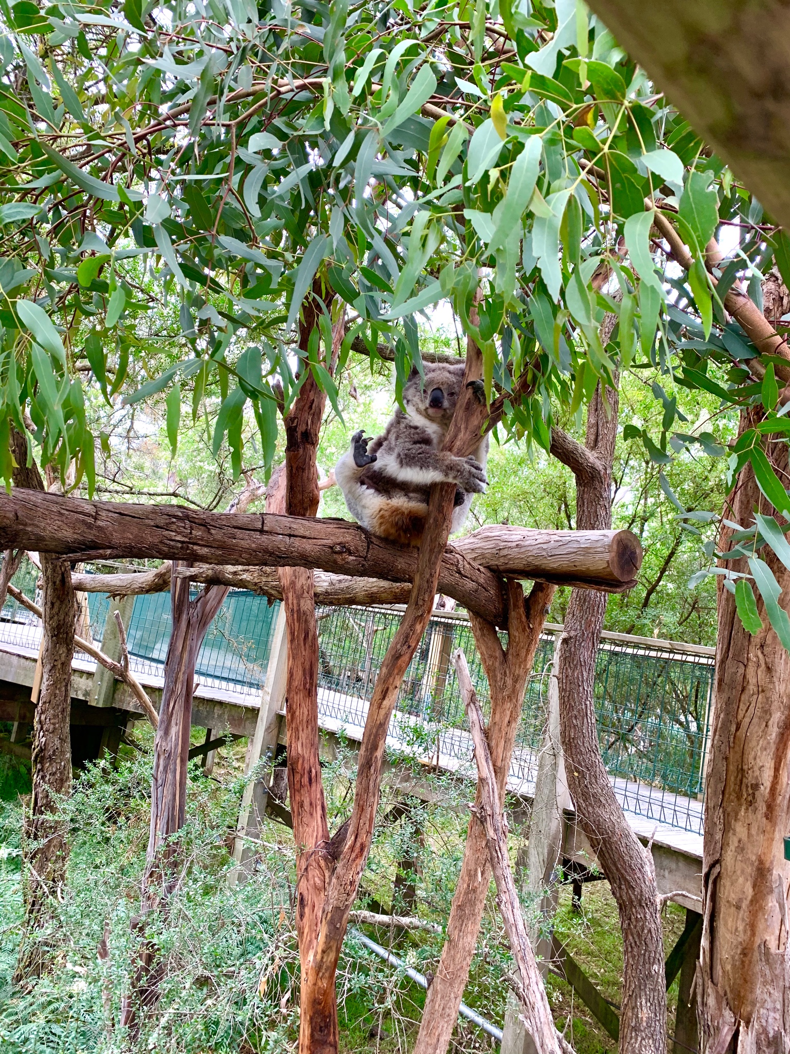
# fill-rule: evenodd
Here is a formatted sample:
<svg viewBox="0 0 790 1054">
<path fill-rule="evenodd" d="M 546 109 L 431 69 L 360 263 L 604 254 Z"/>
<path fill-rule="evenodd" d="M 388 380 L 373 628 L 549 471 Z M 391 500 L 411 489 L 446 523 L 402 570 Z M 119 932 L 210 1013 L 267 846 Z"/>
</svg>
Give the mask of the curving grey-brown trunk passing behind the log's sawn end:
<svg viewBox="0 0 790 1054">
<path fill-rule="evenodd" d="M 590 404 L 586 445 L 554 430 L 552 453 L 576 476 L 576 526 L 609 530 L 611 472 L 618 395 L 600 386 Z M 639 844 L 604 767 L 595 720 L 595 662 L 604 626 L 605 593 L 574 589 L 559 647 L 559 720 L 568 788 L 578 822 L 609 879 L 623 931 L 624 1054 L 665 1054 L 667 994 L 664 940 L 652 857 Z"/>
</svg>

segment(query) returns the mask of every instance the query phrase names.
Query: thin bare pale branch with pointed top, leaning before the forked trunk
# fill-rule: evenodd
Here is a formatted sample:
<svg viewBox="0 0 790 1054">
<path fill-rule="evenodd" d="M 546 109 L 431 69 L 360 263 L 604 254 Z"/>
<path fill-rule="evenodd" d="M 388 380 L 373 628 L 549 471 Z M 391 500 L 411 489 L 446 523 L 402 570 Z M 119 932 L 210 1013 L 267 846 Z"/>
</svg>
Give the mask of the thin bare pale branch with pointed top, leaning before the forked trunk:
<svg viewBox="0 0 790 1054">
<path fill-rule="evenodd" d="M 494 765 L 486 740 L 482 711 L 472 685 L 466 656 L 460 648 L 455 652 L 454 662 L 474 743 L 478 786 L 481 792 L 475 808 L 486 832 L 491 867 L 496 882 L 496 899 L 502 913 L 513 958 L 518 967 L 520 984 L 517 994 L 524 1008 L 525 1024 L 532 1036 L 537 1054 L 558 1054 L 560 1047 L 557 1031 L 535 961 L 535 953 L 527 935 L 516 883 L 510 870 L 507 828 L 499 804 Z"/>
</svg>

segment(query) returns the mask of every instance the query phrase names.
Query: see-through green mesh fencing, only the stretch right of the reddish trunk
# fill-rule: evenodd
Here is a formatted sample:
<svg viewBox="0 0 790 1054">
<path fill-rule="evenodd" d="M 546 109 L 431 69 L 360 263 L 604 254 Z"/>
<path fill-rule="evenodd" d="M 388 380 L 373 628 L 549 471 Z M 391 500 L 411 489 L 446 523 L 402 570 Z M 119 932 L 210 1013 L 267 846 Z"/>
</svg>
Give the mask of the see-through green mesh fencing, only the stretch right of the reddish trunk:
<svg viewBox="0 0 790 1054">
<path fill-rule="evenodd" d="M 386 608 L 319 612 L 319 709 L 324 725 L 358 735 L 376 674 L 399 622 Z M 507 640 L 502 635 L 502 642 Z M 403 679 L 391 745 L 435 757 L 442 768 L 469 765 L 471 744 L 452 655 L 463 648 L 483 710 L 488 683 L 468 621 L 432 618 Z M 527 683 L 510 770 L 530 793 L 537 775 L 554 635 L 546 633 Z M 704 649 L 698 649 L 703 652 Z M 646 819 L 702 833 L 702 776 L 713 660 L 638 638 L 605 635 L 598 650 L 595 709 L 600 749 L 623 806 Z"/>
</svg>

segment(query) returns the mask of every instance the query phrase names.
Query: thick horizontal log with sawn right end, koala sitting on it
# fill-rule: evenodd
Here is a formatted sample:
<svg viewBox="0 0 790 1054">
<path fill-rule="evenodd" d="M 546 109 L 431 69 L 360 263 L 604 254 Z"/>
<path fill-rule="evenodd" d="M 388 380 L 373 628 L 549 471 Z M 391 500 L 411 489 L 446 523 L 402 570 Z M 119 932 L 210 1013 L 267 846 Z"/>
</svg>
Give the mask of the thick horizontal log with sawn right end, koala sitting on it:
<svg viewBox="0 0 790 1054">
<path fill-rule="evenodd" d="M 86 502 L 22 488 L 11 494 L 0 492 L 0 548 L 12 547 L 55 552 L 74 561 L 187 561 L 222 568 L 217 579 L 201 569 L 200 580 L 229 585 L 241 584 L 244 571 L 252 584 L 256 567 L 312 567 L 344 579 L 320 582 L 325 593 L 321 603 L 402 600 L 400 590 L 388 584 L 410 583 L 418 553 L 416 548 L 387 542 L 344 520 L 228 515 L 175 505 Z M 621 591 L 634 584 L 640 563 L 641 547 L 630 531 L 485 527 L 447 547 L 438 588 L 468 610 L 503 626 L 507 611 L 500 575 Z M 235 581 L 230 569 L 238 572 Z M 273 584 L 271 590 L 265 587 L 270 578 L 260 575 L 258 591 L 272 596 L 276 594 Z M 367 582 L 355 590 L 349 587 L 350 579 Z M 367 601 L 359 599 L 362 591 Z"/>
</svg>

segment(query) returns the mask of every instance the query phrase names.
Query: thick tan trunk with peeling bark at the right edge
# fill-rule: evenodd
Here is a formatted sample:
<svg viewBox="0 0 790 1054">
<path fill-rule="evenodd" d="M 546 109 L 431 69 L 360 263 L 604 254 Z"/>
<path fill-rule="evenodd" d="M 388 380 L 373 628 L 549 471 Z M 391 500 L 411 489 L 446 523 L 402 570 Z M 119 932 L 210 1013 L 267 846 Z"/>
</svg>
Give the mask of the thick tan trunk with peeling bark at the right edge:
<svg viewBox="0 0 790 1054">
<path fill-rule="evenodd" d="M 762 415 L 747 412 L 742 431 Z M 788 448 L 766 445 L 779 479 Z M 749 526 L 753 510 L 771 514 L 751 466 L 738 476 L 725 515 Z M 779 521 L 782 522 L 782 521 Z M 729 548 L 727 529 L 722 549 Z M 790 571 L 765 548 L 787 609 Z M 749 573 L 745 559 L 726 565 Z M 790 1049 L 788 883 L 790 835 L 790 656 L 770 628 L 752 637 L 735 598 L 718 580 L 716 694 L 706 782 L 703 857 L 704 928 L 697 965 L 700 1050 L 772 1054 Z"/>
</svg>

